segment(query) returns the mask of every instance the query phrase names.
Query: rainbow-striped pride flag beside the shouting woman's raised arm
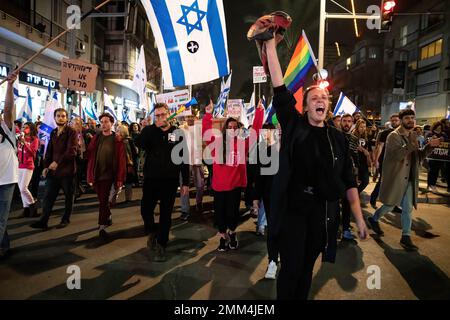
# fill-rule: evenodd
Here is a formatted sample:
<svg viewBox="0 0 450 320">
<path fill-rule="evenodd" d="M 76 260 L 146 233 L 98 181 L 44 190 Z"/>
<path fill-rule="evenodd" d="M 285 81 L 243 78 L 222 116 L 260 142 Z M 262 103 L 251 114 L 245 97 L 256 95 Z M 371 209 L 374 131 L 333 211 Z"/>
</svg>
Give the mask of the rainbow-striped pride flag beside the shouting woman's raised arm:
<svg viewBox="0 0 450 320">
<path fill-rule="evenodd" d="M 304 86 L 306 75 L 312 66 L 317 67 L 316 57 L 311 49 L 305 31 L 302 30 L 302 36 L 297 43 L 297 47 L 284 75 L 284 83 L 289 91 L 296 93 Z"/>
</svg>

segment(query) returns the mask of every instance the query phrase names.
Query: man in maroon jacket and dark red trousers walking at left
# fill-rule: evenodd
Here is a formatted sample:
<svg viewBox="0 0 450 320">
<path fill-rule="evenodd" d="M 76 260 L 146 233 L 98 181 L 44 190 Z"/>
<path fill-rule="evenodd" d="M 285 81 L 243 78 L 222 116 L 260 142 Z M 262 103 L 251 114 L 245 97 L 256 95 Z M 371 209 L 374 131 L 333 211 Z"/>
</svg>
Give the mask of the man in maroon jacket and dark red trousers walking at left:
<svg viewBox="0 0 450 320">
<path fill-rule="evenodd" d="M 121 188 L 126 179 L 125 147 L 119 135 L 112 132 L 114 118 L 109 113 L 99 117 L 101 132 L 96 134 L 88 147 L 87 182 L 93 185 L 99 201 L 99 236 L 107 238 L 106 228 L 111 225 L 109 194 L 114 184 Z"/>
</svg>

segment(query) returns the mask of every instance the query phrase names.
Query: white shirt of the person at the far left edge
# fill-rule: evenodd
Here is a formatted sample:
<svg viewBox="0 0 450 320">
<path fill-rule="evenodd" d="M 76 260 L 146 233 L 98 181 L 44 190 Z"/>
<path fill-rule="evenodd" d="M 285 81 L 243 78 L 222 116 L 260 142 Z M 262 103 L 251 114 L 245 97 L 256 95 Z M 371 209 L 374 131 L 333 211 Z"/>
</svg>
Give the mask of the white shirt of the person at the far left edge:
<svg viewBox="0 0 450 320">
<path fill-rule="evenodd" d="M 16 134 L 13 130 L 9 130 L 4 121 L 0 121 L 0 125 L 6 132 L 12 143 L 16 144 Z M 17 150 L 11 146 L 9 141 L 0 135 L 0 186 L 5 184 L 17 183 L 19 181 L 19 160 L 17 159 Z"/>
</svg>

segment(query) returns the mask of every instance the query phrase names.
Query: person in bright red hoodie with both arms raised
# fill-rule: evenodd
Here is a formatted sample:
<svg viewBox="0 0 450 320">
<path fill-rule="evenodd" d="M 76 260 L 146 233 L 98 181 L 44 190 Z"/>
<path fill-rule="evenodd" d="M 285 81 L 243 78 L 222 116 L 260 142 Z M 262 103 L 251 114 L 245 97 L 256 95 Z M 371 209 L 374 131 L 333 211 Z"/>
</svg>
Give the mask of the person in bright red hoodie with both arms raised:
<svg viewBox="0 0 450 320">
<path fill-rule="evenodd" d="M 212 129 L 212 102 L 206 107 L 206 114 L 202 120 L 202 136 L 209 144 L 213 158 L 213 178 L 212 189 L 214 190 L 214 213 L 220 234 L 219 247 L 217 250 L 235 250 L 238 247 L 236 228 L 239 219 L 239 206 L 241 202 L 241 189 L 247 186 L 247 166 L 246 155 L 248 153 L 250 141 L 248 137 L 243 140 L 239 122 L 234 118 L 228 118 L 221 135 L 214 135 Z M 264 107 L 260 102 L 255 111 L 253 130 L 256 135 L 262 127 L 264 118 Z M 234 142 L 234 143 L 232 143 Z M 233 151 L 230 152 L 231 146 Z M 219 152 L 215 152 L 215 146 Z M 245 147 L 244 147 L 245 146 Z M 243 148 L 244 147 L 244 148 Z M 222 149 L 222 150 L 221 150 Z M 242 152 L 244 151 L 244 152 Z M 224 160 L 225 159 L 225 160 Z M 229 230 L 227 233 L 227 229 Z"/>
</svg>

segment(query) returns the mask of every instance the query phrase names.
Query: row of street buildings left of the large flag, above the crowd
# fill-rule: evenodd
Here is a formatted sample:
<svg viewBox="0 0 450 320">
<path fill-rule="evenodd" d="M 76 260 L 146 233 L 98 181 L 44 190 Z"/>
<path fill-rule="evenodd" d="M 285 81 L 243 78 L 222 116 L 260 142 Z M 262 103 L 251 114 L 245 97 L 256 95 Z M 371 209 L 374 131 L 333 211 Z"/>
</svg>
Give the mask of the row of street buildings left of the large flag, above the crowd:
<svg viewBox="0 0 450 320">
<path fill-rule="evenodd" d="M 0 79 L 67 29 L 67 21 L 73 14 L 71 5 L 84 13 L 95 4 L 93 0 L 0 1 Z M 50 87 L 58 92 L 58 99 L 67 110 L 77 111 L 81 106 L 93 103 L 100 113 L 106 88 L 119 118 L 124 110 L 133 110 L 136 116 L 143 116 L 139 97 L 132 88 L 142 44 L 146 53 L 147 88 L 149 94 L 156 93 L 161 68 L 144 8 L 139 1 L 107 4 L 94 16 L 83 20 L 80 29 L 68 32 L 20 72 L 17 111 L 29 88 L 33 120 L 42 117 Z M 94 92 L 74 92 L 60 85 L 63 58 L 80 59 L 99 66 Z M 6 85 L 0 88 L 0 109 L 3 109 L 5 89 Z"/>
</svg>

